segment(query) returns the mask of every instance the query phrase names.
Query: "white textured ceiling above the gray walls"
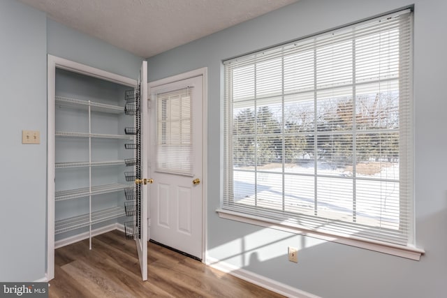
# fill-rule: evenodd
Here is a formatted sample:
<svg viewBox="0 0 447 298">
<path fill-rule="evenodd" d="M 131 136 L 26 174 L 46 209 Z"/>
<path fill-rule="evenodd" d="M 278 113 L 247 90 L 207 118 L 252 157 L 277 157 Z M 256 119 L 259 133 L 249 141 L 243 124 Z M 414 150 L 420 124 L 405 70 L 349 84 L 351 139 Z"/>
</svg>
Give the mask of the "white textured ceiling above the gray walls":
<svg viewBox="0 0 447 298">
<path fill-rule="evenodd" d="M 298 0 L 19 0 L 140 57 L 250 20 Z"/>
</svg>

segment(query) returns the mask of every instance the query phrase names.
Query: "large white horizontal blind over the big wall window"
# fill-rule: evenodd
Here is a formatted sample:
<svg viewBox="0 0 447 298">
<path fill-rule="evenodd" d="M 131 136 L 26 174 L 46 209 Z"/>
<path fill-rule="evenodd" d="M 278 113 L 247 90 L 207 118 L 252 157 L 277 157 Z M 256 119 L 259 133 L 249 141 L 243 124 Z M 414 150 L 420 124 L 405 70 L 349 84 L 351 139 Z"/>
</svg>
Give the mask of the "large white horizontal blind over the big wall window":
<svg viewBox="0 0 447 298">
<path fill-rule="evenodd" d="M 406 246 L 412 13 L 226 61 L 223 209 Z"/>
</svg>

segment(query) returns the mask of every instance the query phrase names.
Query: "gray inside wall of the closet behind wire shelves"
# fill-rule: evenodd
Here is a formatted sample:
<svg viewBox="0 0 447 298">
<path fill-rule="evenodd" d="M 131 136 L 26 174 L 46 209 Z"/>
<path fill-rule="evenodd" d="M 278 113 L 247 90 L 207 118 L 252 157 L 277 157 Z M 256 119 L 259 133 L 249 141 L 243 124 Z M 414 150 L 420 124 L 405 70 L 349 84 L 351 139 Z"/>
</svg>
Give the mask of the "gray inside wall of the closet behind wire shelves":
<svg viewBox="0 0 447 298">
<path fill-rule="evenodd" d="M 124 177 L 133 170 L 124 160 L 134 154 L 124 148 L 133 142 L 124 133 L 133 126 L 133 117 L 124 114 L 124 91 L 129 89 L 56 70 L 56 246 L 61 239 L 89 232 L 90 213 L 92 230 L 124 222 L 124 188 L 133 187 Z"/>
</svg>

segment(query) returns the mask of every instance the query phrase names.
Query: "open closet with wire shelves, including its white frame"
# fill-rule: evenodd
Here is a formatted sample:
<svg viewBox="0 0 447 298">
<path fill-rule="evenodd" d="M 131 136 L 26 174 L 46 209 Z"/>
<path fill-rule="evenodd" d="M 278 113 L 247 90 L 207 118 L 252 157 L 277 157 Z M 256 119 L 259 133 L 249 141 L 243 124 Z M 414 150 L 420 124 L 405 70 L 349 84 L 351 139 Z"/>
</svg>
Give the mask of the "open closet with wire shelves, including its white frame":
<svg viewBox="0 0 447 298">
<path fill-rule="evenodd" d="M 54 278 L 54 249 L 89 239 L 91 250 L 93 237 L 112 230 L 144 244 L 138 255 L 146 260 L 140 263 L 147 275 L 147 225 L 141 224 L 147 216 L 142 186 L 135 185 L 142 159 L 138 86 L 147 84 L 145 77 L 139 84 L 48 57 L 48 281 Z"/>
</svg>

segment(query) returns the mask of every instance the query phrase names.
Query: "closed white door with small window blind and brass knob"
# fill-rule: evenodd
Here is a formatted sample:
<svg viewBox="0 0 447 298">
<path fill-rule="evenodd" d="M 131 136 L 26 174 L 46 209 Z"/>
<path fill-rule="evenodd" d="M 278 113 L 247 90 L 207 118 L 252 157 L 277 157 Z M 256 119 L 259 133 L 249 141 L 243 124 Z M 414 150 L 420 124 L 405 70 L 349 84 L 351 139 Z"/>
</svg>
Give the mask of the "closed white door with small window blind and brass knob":
<svg viewBox="0 0 447 298">
<path fill-rule="evenodd" d="M 150 88 L 150 239 L 203 258 L 203 75 Z"/>
</svg>

